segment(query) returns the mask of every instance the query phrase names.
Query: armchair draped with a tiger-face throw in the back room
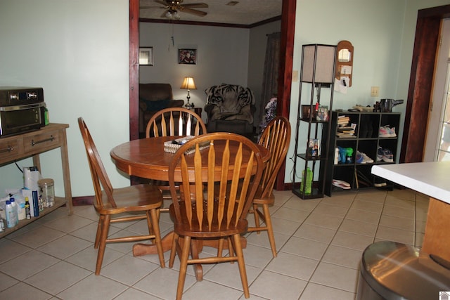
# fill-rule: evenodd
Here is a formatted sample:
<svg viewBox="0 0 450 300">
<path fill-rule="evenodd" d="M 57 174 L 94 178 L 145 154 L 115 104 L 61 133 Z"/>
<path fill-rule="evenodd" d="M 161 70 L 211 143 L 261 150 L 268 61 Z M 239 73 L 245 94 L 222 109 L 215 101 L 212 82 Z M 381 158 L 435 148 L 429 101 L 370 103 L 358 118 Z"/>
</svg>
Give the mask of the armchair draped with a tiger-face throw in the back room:
<svg viewBox="0 0 450 300">
<path fill-rule="evenodd" d="M 205 90 L 207 131 L 226 131 L 252 138 L 255 96 L 249 88 L 234 84 L 211 86 Z"/>
</svg>

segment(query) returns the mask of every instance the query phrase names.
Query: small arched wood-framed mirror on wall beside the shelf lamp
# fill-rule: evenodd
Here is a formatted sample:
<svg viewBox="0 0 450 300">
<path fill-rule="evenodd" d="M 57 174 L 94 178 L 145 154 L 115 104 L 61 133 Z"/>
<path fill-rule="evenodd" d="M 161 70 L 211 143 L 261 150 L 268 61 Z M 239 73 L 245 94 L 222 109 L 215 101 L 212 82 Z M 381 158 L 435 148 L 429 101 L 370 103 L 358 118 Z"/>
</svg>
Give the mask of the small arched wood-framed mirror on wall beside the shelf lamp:
<svg viewBox="0 0 450 300">
<path fill-rule="evenodd" d="M 335 77 L 343 86 L 352 86 L 353 45 L 349 41 L 340 41 L 336 49 Z"/>
</svg>

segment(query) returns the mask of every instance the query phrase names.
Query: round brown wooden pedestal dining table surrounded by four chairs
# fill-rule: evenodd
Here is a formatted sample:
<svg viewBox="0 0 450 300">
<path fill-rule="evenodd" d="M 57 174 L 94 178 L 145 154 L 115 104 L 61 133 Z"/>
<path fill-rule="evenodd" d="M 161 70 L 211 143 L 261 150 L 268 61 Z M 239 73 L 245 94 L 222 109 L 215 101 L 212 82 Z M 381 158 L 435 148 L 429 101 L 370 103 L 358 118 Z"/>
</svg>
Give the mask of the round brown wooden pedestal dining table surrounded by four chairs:
<svg viewBox="0 0 450 300">
<path fill-rule="evenodd" d="M 110 156 L 115 161 L 117 169 L 124 171 L 130 176 L 138 176 L 158 181 L 169 181 L 169 164 L 174 157 L 174 153 L 166 152 L 164 143 L 173 141 L 179 136 L 161 136 L 156 138 L 141 138 L 117 145 L 110 151 Z M 220 143 L 214 143 L 215 148 L 219 150 Z M 222 145 L 224 146 L 224 145 Z M 270 158 L 270 152 L 261 145 L 258 145 L 262 160 L 267 162 Z M 233 148 L 231 148 L 233 150 Z M 207 168 L 207 151 L 205 153 L 205 168 Z M 231 157 L 232 158 L 232 157 Z M 230 159 L 231 162 L 233 159 Z M 245 166 L 243 166 L 245 167 Z M 176 175 L 176 174 L 175 174 Z M 181 177 L 176 178 L 181 181 Z M 207 244 L 205 244 L 207 245 Z M 245 244 L 243 244 L 245 245 Z M 162 248 L 168 251 L 172 246 L 172 234 L 162 238 Z M 133 255 L 141 256 L 145 254 L 157 254 L 154 244 L 134 244 Z"/>
</svg>

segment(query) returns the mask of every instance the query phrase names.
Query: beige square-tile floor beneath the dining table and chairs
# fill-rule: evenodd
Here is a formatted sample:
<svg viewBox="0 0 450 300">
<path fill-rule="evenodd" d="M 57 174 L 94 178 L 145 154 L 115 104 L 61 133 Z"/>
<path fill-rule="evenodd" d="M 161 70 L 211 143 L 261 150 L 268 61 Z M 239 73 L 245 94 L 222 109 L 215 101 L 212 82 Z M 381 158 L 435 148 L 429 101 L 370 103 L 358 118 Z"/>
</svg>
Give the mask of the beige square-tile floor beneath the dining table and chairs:
<svg viewBox="0 0 450 300">
<path fill-rule="evenodd" d="M 428 197 L 411 190 L 345 191 L 318 200 L 275 194 L 278 256 L 265 233 L 248 235 L 250 299 L 354 299 L 368 244 L 423 241 Z M 96 220 L 91 206 L 75 207 L 72 216 L 60 208 L 2 238 L 0 299 L 174 299 L 178 265 L 162 269 L 156 256 L 134 257 L 130 243 L 109 244 L 101 275 L 94 275 Z M 110 233 L 143 233 L 142 222 Z M 160 224 L 163 235 L 172 228 L 167 214 Z M 196 282 L 189 266 L 184 299 L 244 299 L 237 263 L 205 265 L 204 272 Z"/>
</svg>

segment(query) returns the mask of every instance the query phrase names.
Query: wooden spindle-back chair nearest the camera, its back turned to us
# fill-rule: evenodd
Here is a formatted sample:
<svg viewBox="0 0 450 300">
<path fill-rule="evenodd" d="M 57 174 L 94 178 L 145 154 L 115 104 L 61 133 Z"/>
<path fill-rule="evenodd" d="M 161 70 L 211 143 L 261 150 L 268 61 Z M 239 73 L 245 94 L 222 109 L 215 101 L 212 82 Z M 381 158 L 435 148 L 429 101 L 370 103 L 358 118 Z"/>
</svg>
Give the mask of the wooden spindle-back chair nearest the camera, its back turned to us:
<svg viewBox="0 0 450 300">
<path fill-rule="evenodd" d="M 223 145 L 223 147 L 219 147 Z M 206 148 L 205 148 L 206 147 Z M 205 148 L 202 150 L 202 148 Z M 186 154 L 190 150 L 193 153 Z M 203 153 L 203 155 L 202 155 Z M 262 177 L 264 162 L 258 146 L 235 133 L 207 133 L 192 138 L 175 153 L 169 164 L 169 185 L 174 219 L 174 240 L 169 267 L 175 254 L 181 261 L 176 299 L 183 294 L 188 264 L 238 261 L 245 298 L 250 296 L 240 235 Z M 238 188 L 239 181 L 243 185 Z M 176 182 L 181 193 L 176 193 Z M 218 190 L 219 193 L 214 193 Z M 229 256 L 198 256 L 198 240 L 229 242 Z M 191 252 L 191 259 L 188 258 Z M 236 255 L 235 255 L 236 254 Z"/>
</svg>

